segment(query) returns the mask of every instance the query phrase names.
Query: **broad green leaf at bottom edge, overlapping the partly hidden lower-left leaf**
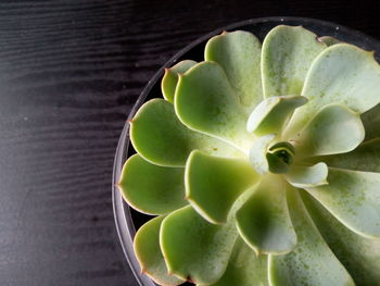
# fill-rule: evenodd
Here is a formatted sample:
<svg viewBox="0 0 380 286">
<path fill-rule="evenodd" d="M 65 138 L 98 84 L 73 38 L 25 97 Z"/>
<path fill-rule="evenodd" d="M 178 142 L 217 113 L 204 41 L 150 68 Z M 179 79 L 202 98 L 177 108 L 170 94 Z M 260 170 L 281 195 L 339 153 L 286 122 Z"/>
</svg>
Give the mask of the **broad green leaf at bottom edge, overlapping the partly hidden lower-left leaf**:
<svg viewBox="0 0 380 286">
<path fill-rule="evenodd" d="M 225 273 L 236 238 L 233 223 L 211 224 L 189 206 L 164 220 L 160 244 L 169 273 L 212 284 Z"/>
</svg>

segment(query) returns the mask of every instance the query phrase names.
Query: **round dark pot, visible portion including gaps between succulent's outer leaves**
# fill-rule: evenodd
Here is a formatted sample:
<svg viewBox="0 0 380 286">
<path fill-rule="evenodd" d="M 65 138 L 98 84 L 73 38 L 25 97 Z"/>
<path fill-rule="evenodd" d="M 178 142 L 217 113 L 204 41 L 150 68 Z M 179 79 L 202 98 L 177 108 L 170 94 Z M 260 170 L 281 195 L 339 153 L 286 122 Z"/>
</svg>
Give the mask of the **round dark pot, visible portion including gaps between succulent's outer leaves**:
<svg viewBox="0 0 380 286">
<path fill-rule="evenodd" d="M 332 36 L 341 41 L 353 43 L 365 50 L 373 50 L 377 52 L 376 59 L 379 61 L 380 42 L 378 40 L 368 37 L 360 32 L 350 29 L 344 26 L 337 25 L 334 23 L 302 17 L 262 17 L 242 21 L 226 27 L 218 28 L 191 42 L 182 50 L 180 50 L 177 54 L 175 54 L 168 62 L 165 63 L 164 66 L 162 66 L 157 71 L 157 73 L 148 83 L 128 117 L 131 119 L 137 112 L 137 110 L 147 100 L 162 97 L 161 78 L 164 74 L 165 67 L 173 66 L 176 62 L 179 62 L 181 60 L 202 61 L 204 46 L 211 37 L 220 34 L 223 30 L 243 29 L 253 33 L 256 37 L 259 38 L 261 41 L 263 41 L 264 37 L 271 28 L 281 24 L 291 26 L 301 25 L 314 32 L 318 36 Z M 119 181 L 121 177 L 121 172 L 124 162 L 129 156 L 134 153 L 135 150 L 129 141 L 129 124 L 126 123 L 126 125 L 123 128 L 121 139 L 116 149 L 113 170 L 112 199 L 115 223 L 125 257 L 128 260 L 128 263 L 136 276 L 136 279 L 141 286 L 155 286 L 156 284 L 153 283 L 148 276 L 140 274 L 140 266 L 136 259 L 132 246 L 132 239 L 136 229 L 139 228 L 144 222 L 149 221 L 152 216 L 141 214 L 129 208 L 129 206 L 126 202 L 124 202 L 122 194 L 116 187 L 116 183 Z M 185 285 L 191 284 L 186 283 Z"/>
</svg>

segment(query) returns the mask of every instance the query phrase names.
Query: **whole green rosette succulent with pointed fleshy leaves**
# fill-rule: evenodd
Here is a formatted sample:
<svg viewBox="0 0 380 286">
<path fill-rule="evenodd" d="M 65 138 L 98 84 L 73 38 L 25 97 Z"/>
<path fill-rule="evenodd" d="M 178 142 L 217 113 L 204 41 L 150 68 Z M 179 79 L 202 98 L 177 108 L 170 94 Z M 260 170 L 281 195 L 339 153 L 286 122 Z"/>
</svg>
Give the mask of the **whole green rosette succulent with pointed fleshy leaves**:
<svg viewBox="0 0 380 286">
<path fill-rule="evenodd" d="M 303 27 L 211 38 L 130 123 L 125 200 L 161 285 L 380 285 L 380 67 Z"/>
</svg>

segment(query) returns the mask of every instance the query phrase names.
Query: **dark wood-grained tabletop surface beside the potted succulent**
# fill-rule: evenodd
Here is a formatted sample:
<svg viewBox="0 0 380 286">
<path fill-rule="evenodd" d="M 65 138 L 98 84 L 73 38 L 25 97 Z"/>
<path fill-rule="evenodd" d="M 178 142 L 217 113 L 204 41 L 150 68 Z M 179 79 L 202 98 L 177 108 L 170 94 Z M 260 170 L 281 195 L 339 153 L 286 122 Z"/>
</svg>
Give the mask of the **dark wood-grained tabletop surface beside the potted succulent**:
<svg viewBox="0 0 380 286">
<path fill-rule="evenodd" d="M 137 286 L 112 212 L 118 136 L 179 49 L 262 16 L 380 39 L 376 1 L 0 1 L 0 285 Z"/>
</svg>

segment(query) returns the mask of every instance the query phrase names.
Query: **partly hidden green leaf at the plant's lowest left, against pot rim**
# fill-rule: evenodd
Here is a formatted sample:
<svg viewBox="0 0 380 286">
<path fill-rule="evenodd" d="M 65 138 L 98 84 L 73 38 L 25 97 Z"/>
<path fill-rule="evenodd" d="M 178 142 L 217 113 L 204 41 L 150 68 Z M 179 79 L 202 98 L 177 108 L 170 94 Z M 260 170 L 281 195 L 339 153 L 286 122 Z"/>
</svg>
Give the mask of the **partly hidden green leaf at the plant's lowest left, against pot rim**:
<svg viewBox="0 0 380 286">
<path fill-rule="evenodd" d="M 167 274 L 164 257 L 160 249 L 160 227 L 164 216 L 157 216 L 142 225 L 134 240 L 135 253 L 141 272 L 160 285 L 174 286 L 183 279 Z"/>
</svg>

